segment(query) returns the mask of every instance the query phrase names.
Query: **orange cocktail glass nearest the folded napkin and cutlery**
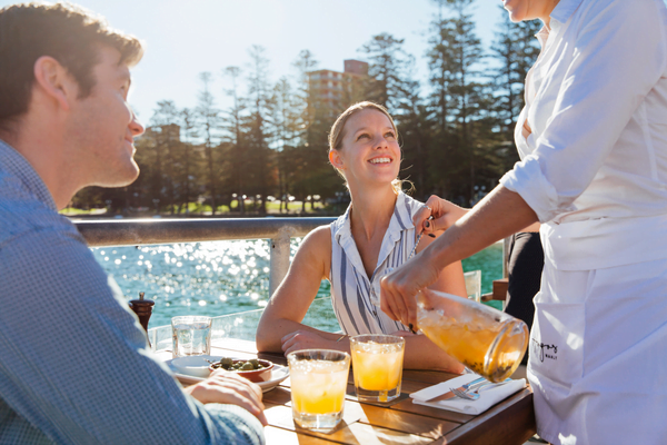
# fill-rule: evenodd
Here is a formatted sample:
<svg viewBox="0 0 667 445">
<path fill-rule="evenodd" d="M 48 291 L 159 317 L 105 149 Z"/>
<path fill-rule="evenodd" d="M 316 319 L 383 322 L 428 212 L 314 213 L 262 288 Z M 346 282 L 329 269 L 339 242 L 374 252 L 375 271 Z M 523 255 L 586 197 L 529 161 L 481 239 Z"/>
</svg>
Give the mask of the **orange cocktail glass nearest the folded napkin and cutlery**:
<svg viewBox="0 0 667 445">
<path fill-rule="evenodd" d="M 395 335 L 350 338 L 355 389 L 359 402 L 389 402 L 400 395 L 406 340 Z"/>
</svg>

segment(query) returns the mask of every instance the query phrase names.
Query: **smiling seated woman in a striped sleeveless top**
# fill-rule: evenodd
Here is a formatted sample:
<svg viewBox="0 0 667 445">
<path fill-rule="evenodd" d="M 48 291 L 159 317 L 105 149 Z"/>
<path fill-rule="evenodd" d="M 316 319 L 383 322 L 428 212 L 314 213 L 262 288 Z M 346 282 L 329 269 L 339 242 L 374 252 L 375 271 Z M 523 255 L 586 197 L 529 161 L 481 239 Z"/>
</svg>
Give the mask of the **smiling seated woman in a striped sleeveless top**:
<svg viewBox="0 0 667 445">
<path fill-rule="evenodd" d="M 379 308 L 380 278 L 409 260 L 417 241 L 412 217 L 424 207 L 400 191 L 401 149 L 391 116 L 372 102 L 354 105 L 334 123 L 329 146 L 329 160 L 345 178 L 351 204 L 330 226 L 303 239 L 261 317 L 258 349 L 349 353 L 349 336 L 395 334 L 406 338 L 405 367 L 461 373 L 460 363 Z M 432 240 L 421 238 L 417 251 Z M 301 323 L 322 279 L 331 283 L 331 303 L 342 335 Z M 432 288 L 466 298 L 460 261 L 439 270 Z"/>
</svg>

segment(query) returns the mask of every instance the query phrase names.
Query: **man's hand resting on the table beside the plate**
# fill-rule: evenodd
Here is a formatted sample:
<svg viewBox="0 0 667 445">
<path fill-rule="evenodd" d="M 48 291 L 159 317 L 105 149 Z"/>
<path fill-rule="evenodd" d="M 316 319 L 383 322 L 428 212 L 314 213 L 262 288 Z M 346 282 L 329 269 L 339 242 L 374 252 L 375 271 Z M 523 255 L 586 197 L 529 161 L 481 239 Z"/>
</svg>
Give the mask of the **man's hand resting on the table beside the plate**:
<svg viewBox="0 0 667 445">
<path fill-rule="evenodd" d="M 217 369 L 209 378 L 185 388 L 183 392 L 202 404 L 238 405 L 253 414 L 262 425 L 268 425 L 261 403 L 261 388 L 236 373 Z"/>
</svg>

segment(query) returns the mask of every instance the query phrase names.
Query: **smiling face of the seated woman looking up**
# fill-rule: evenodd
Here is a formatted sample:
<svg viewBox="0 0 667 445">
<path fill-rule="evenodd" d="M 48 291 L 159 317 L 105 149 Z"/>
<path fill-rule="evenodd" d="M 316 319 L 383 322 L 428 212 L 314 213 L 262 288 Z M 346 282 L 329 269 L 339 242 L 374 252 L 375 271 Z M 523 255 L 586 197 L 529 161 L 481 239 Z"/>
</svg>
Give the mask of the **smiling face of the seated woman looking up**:
<svg viewBox="0 0 667 445">
<path fill-rule="evenodd" d="M 329 152 L 334 167 L 354 184 L 391 184 L 400 169 L 400 147 L 391 121 L 372 108 L 349 117 L 342 147 Z"/>
</svg>

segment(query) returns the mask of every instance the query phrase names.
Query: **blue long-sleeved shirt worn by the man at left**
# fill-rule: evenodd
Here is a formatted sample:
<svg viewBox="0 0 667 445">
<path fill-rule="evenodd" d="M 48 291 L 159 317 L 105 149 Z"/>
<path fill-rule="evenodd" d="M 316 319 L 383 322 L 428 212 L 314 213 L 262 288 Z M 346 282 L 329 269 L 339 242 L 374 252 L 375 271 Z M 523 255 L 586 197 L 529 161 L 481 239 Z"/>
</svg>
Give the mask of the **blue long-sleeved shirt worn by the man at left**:
<svg viewBox="0 0 667 445">
<path fill-rule="evenodd" d="M 0 140 L 0 444 L 259 444 L 186 396 L 30 164 Z"/>
</svg>

